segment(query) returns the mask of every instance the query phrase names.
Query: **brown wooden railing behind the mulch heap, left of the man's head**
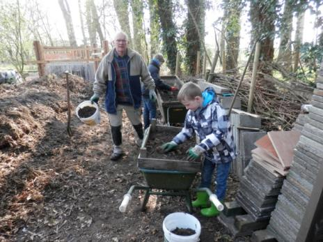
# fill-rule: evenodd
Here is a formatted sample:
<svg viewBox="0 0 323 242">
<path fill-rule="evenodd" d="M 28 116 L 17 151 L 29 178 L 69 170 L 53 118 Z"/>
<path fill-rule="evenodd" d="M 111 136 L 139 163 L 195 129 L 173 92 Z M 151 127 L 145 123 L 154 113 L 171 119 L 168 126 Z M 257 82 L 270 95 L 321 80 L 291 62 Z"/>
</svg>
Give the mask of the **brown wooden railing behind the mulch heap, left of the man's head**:
<svg viewBox="0 0 323 242">
<path fill-rule="evenodd" d="M 94 68 L 97 70 L 102 57 L 109 52 L 107 40 L 102 41 L 102 48 L 96 45 L 85 47 L 52 47 L 42 46 L 39 40 L 33 41 L 33 47 L 36 54 L 36 63 L 38 65 L 38 74 L 40 77 L 45 75 L 47 63 L 58 62 L 94 62 Z"/>
</svg>

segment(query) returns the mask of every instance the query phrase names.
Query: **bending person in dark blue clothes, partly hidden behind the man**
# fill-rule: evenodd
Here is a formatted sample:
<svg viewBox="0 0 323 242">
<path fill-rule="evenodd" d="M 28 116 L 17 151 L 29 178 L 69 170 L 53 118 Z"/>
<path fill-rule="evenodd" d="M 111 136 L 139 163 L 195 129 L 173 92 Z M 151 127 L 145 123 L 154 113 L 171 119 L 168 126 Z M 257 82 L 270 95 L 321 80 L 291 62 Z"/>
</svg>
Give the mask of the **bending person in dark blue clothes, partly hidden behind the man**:
<svg viewBox="0 0 323 242">
<path fill-rule="evenodd" d="M 162 54 L 156 54 L 152 61 L 148 65 L 148 70 L 152 79 L 155 81 L 155 86 L 157 90 L 166 91 L 178 91 L 176 86 L 170 86 L 163 82 L 159 76 L 160 66 L 165 62 L 164 56 Z M 151 119 L 156 119 L 157 109 L 156 102 L 150 100 L 149 90 L 143 86 L 143 128 L 146 129 L 150 125 Z"/>
</svg>

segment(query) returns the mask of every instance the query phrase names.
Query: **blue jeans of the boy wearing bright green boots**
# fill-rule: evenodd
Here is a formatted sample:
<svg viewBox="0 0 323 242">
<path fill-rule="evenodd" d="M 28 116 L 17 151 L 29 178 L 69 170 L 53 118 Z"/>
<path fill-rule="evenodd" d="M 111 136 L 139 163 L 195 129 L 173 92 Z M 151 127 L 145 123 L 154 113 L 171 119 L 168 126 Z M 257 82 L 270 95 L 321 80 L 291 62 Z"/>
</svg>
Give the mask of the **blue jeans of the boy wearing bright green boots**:
<svg viewBox="0 0 323 242">
<path fill-rule="evenodd" d="M 215 195 L 220 201 L 226 197 L 226 182 L 230 172 L 231 162 L 214 164 L 211 160 L 204 159 L 200 188 L 210 188 L 212 174 L 216 167 L 216 192 Z"/>
</svg>

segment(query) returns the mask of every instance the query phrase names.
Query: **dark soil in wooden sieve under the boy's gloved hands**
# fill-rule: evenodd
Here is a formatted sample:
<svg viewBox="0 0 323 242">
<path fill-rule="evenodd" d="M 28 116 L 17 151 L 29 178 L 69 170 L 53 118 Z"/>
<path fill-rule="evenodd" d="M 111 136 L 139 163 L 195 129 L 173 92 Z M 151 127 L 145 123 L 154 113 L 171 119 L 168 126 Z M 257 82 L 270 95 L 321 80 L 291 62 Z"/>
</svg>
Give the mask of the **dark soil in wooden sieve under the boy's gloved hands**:
<svg viewBox="0 0 323 242">
<path fill-rule="evenodd" d="M 180 132 L 174 132 L 173 130 L 167 130 L 166 132 L 161 132 L 157 130 L 156 133 L 150 134 L 148 138 L 148 142 L 145 145 L 148 153 L 148 158 L 155 159 L 164 159 L 164 160 L 187 160 L 187 150 L 191 147 L 195 146 L 195 137 L 191 137 L 191 139 L 187 140 L 183 144 L 180 144 L 177 149 L 174 151 L 170 151 L 165 153 L 161 149 L 161 145 L 166 142 L 171 142 L 173 137 Z"/>
</svg>

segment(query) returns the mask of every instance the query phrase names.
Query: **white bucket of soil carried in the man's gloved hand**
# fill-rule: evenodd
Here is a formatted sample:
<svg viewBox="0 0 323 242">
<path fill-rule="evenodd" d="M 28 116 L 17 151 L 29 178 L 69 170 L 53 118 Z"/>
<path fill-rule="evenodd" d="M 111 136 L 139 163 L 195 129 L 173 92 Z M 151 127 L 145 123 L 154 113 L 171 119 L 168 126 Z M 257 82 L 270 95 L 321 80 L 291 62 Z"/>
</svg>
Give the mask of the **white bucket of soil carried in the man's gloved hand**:
<svg viewBox="0 0 323 242">
<path fill-rule="evenodd" d="M 90 100 L 80 103 L 75 112 L 77 117 L 88 126 L 95 126 L 101 121 L 99 106 Z"/>
</svg>

